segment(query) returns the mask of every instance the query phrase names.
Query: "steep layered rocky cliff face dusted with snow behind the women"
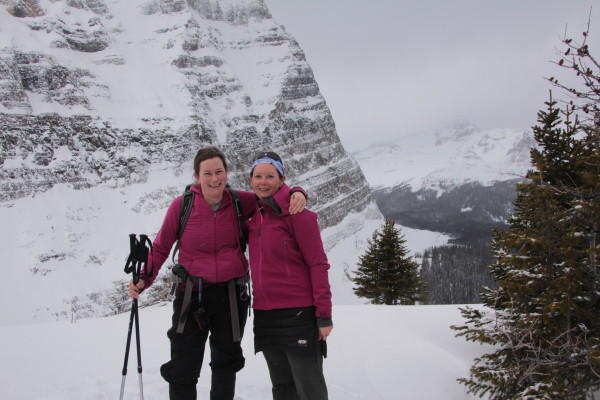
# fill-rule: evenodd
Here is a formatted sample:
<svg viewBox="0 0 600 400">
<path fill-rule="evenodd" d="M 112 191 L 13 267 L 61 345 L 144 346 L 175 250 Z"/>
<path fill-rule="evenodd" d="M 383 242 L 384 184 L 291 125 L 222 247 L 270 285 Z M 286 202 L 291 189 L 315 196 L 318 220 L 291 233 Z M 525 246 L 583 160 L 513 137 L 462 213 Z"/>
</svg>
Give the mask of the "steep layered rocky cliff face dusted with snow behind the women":
<svg viewBox="0 0 600 400">
<path fill-rule="evenodd" d="M 277 151 L 323 227 L 372 201 L 302 49 L 263 1 L 0 5 L 0 205 L 59 183 L 191 174 L 206 145 L 226 152 L 237 188 L 257 151 Z"/>
</svg>

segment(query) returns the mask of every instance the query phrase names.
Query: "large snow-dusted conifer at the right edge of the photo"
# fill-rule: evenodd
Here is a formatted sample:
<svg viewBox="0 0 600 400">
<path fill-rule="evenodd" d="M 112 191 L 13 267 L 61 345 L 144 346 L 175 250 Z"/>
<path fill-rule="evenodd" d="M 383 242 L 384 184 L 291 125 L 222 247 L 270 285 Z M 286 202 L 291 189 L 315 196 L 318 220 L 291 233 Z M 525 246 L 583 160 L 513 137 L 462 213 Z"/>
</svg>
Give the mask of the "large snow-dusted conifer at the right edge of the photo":
<svg viewBox="0 0 600 400">
<path fill-rule="evenodd" d="M 495 346 L 459 379 L 492 400 L 591 399 L 600 388 L 600 65 L 586 38 L 565 39 L 558 62 L 584 88 L 538 113 L 534 169 L 517 185 L 508 230 L 493 234 L 489 310 L 462 309 L 466 323 L 453 326 Z"/>
</svg>

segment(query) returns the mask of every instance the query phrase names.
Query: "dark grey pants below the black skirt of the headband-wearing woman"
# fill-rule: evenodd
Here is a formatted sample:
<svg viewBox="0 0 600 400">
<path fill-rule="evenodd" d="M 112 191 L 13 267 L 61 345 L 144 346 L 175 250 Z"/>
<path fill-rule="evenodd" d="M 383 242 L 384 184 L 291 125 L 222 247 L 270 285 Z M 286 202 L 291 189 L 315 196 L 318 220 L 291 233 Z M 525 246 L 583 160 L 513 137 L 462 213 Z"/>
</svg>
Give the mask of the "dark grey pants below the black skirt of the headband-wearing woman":
<svg viewBox="0 0 600 400">
<path fill-rule="evenodd" d="M 323 357 L 317 351 L 264 349 L 273 400 L 327 400 Z"/>
</svg>

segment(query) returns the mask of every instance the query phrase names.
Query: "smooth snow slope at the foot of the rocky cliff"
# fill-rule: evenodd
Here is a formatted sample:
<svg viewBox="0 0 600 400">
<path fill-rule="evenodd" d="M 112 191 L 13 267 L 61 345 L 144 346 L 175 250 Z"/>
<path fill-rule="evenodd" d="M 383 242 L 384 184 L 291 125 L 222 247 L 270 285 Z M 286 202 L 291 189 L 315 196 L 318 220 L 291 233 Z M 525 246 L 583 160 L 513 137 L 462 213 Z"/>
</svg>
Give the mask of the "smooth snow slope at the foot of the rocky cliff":
<svg viewBox="0 0 600 400">
<path fill-rule="evenodd" d="M 65 301 L 109 289 L 114 281 L 130 279 L 123 267 L 129 254 L 129 234 L 154 239 L 166 208 L 189 179 L 175 181 L 164 172 L 154 173 L 145 184 L 114 189 L 105 186 L 74 190 L 57 185 L 35 197 L 0 207 L 0 326 L 52 321 L 69 309 Z M 139 193 L 173 189 L 165 204 L 145 204 Z M 43 204 L 44 207 L 38 206 Z M 132 212 L 135 209 L 137 212 Z M 383 219 L 371 208 L 350 214 L 339 225 L 322 232 L 331 264 L 334 304 L 363 304 L 346 276 L 356 269 L 359 256 Z M 402 228 L 411 254 L 440 245 L 448 237 L 429 231 Z M 16 266 L 16 267 L 15 267 Z M 165 263 L 163 271 L 167 271 Z M 25 282 L 27 296 L 22 296 Z M 19 298 L 18 302 L 14 299 Z M 10 304 L 10 306 L 7 306 Z"/>
</svg>

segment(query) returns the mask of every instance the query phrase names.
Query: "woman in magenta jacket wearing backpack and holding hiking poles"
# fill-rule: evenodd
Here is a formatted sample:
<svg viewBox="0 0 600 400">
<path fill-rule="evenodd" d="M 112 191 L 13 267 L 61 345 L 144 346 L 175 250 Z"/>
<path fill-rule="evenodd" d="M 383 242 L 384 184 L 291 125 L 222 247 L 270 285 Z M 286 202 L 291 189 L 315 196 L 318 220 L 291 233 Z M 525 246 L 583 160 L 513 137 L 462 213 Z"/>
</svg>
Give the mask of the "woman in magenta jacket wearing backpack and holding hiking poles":
<svg viewBox="0 0 600 400">
<path fill-rule="evenodd" d="M 243 296 L 248 261 L 240 246 L 232 195 L 225 190 L 225 155 L 213 147 L 200 149 L 194 159 L 194 178 L 196 185 L 191 190 L 195 196 L 179 238 L 178 260 L 182 267 L 180 275 L 190 283 L 190 296 L 185 296 L 185 285 L 181 284 L 173 302 L 172 327 L 167 333 L 171 360 L 162 365 L 160 372 L 169 382 L 171 400 L 195 400 L 204 348 L 209 340 L 210 398 L 232 400 L 236 373 L 245 364 L 240 340 L 248 310 L 248 298 Z M 252 192 L 238 193 L 243 218 L 248 219 L 256 210 L 256 198 Z M 301 211 L 306 204 L 304 195 L 297 196 L 298 203 L 290 212 Z M 154 282 L 169 257 L 177 241 L 182 201 L 179 196 L 169 206 L 140 281 L 137 285 L 129 284 L 131 297 L 137 298 Z"/>
</svg>

